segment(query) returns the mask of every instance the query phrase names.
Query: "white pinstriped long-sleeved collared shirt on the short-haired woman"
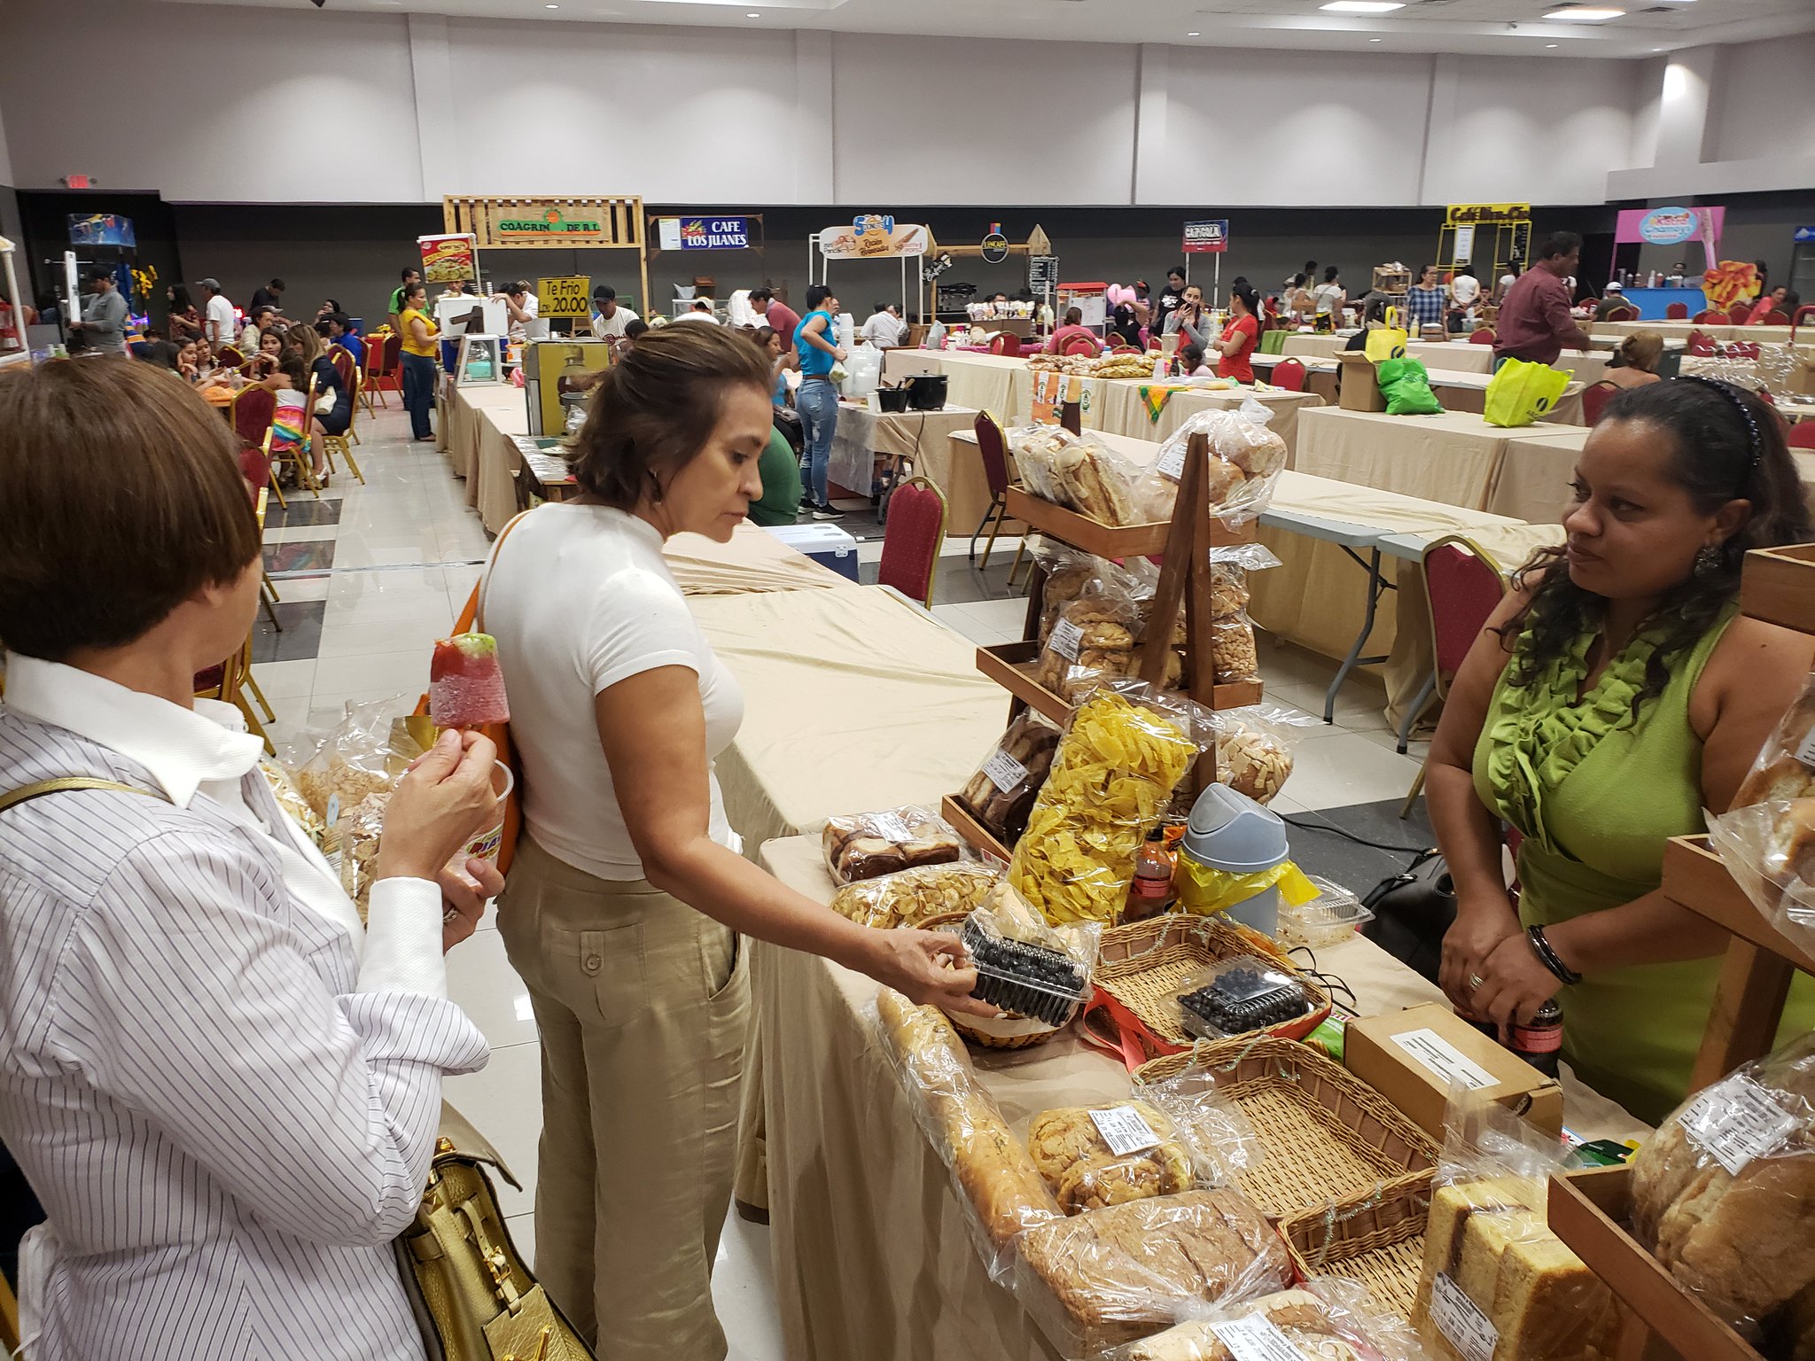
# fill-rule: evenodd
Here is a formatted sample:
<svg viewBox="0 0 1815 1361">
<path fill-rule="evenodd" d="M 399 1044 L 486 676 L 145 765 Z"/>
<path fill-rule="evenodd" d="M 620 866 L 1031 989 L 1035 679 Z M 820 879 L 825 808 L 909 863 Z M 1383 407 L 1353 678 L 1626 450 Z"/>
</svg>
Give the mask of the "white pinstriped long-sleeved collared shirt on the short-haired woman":
<svg viewBox="0 0 1815 1361">
<path fill-rule="evenodd" d="M 54 1232 L 42 1294 L 22 1299 L 31 1356 L 417 1361 L 390 1239 L 428 1172 L 443 1074 L 486 1058 L 445 998 L 439 891 L 381 882 L 356 960 L 347 927 L 285 886 L 258 824 L 294 833 L 263 777 L 243 775 L 238 817 L 209 797 L 241 762 L 211 749 L 214 724 L 22 662 L 0 789 L 100 775 L 176 800 L 60 793 L 0 817 L 0 1138 Z M 96 693 L 118 700 L 114 722 L 162 706 L 162 746 L 134 759 L 45 722 L 65 704 L 51 673 L 87 686 L 91 713 Z"/>
</svg>

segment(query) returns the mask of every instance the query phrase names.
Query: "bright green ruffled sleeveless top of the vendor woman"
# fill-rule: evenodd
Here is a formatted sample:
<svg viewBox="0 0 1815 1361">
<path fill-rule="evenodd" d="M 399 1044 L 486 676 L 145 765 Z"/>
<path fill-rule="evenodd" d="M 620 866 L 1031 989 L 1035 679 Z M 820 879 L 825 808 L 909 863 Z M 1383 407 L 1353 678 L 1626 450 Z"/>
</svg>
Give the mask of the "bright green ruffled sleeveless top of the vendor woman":
<svg viewBox="0 0 1815 1361">
<path fill-rule="evenodd" d="M 1474 784 L 1483 806 L 1525 833 L 1525 925 L 1643 898 L 1663 882 L 1664 842 L 1706 829 L 1690 697 L 1737 613 L 1730 606 L 1670 662 L 1668 684 L 1637 719 L 1632 700 L 1659 632 L 1632 639 L 1586 693 L 1597 630 L 1577 637 L 1532 684 L 1501 675 L 1476 744 Z M 1530 637 L 1526 628 L 1519 646 L 1528 648 Z M 1688 1092 L 1719 973 L 1719 958 L 1646 964 L 1565 987 L 1557 993 L 1565 1058 L 1583 1082 L 1655 1125 Z M 1782 1034 L 1815 1025 L 1808 982 L 1791 991 Z"/>
</svg>

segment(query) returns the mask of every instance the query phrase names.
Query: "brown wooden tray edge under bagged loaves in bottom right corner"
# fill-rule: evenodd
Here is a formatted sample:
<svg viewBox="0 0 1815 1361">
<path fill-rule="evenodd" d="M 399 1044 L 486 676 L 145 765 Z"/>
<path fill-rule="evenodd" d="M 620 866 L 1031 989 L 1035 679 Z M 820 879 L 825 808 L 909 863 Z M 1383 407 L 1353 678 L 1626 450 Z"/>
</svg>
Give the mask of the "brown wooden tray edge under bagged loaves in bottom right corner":
<svg viewBox="0 0 1815 1361">
<path fill-rule="evenodd" d="M 1624 1307 L 1617 1361 L 1761 1361 L 1644 1247 L 1626 1232 L 1632 1169 L 1594 1167 L 1550 1178 L 1550 1230 L 1606 1281 Z M 1663 1341 L 1668 1337 L 1670 1341 Z"/>
</svg>

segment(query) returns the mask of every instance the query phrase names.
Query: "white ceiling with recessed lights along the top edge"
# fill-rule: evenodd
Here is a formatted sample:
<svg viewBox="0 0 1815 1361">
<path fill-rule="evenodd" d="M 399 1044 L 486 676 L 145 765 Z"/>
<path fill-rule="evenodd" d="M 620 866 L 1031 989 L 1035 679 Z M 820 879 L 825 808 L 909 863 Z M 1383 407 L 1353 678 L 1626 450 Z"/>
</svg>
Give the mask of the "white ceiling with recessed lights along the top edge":
<svg viewBox="0 0 1815 1361">
<path fill-rule="evenodd" d="M 310 0 L 162 2 L 310 9 Z M 1815 33 L 1815 0 L 1604 0 L 1624 5 L 1626 15 L 1595 24 L 1546 20 L 1561 2 L 1408 0 L 1390 15 L 1369 16 L 1325 13 L 1321 0 L 327 0 L 330 9 L 348 13 L 557 24 L 701 24 L 1486 56 L 1652 56 L 1677 47 Z"/>
</svg>

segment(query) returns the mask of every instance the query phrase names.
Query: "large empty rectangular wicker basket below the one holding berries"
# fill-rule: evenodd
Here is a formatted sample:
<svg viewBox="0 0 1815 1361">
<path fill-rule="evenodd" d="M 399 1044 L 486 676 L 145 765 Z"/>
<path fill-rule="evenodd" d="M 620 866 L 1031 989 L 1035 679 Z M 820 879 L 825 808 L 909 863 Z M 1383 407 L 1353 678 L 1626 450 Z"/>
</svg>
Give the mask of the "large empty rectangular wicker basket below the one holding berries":
<svg viewBox="0 0 1815 1361">
<path fill-rule="evenodd" d="M 1216 1074 L 1218 1092 L 1260 1134 L 1265 1156 L 1236 1181 L 1274 1218 L 1428 1180 L 1436 1165 L 1437 1147 L 1425 1131 L 1309 1045 L 1265 1034 L 1200 1043 L 1143 1063 L 1134 1082 L 1158 1082 L 1192 1065 Z"/>
</svg>

